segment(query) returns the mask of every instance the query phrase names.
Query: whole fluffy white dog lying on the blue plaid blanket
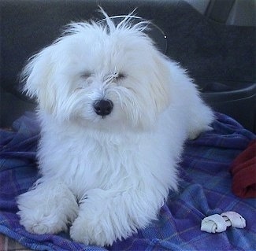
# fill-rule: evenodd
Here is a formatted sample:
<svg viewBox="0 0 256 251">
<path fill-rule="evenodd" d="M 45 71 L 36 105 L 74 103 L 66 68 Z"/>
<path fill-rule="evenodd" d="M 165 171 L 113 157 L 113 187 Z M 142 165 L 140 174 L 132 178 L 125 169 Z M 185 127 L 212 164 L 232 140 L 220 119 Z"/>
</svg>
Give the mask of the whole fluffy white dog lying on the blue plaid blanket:
<svg viewBox="0 0 256 251">
<path fill-rule="evenodd" d="M 39 102 L 42 178 L 17 198 L 27 231 L 71 225 L 73 240 L 93 245 L 157 219 L 178 188 L 185 139 L 213 120 L 184 69 L 143 32 L 147 23 L 104 15 L 105 24 L 71 24 L 24 68 Z"/>
</svg>

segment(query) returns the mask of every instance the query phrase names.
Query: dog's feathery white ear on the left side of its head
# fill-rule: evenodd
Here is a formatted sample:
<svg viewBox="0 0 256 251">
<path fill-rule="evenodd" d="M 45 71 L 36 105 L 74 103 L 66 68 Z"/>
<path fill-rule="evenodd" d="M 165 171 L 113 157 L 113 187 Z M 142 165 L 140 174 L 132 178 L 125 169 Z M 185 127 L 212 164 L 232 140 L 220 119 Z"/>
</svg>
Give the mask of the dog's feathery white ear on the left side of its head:
<svg viewBox="0 0 256 251">
<path fill-rule="evenodd" d="M 24 92 L 39 102 L 40 109 L 53 113 L 56 105 L 56 89 L 52 84 L 54 76 L 53 46 L 46 47 L 35 54 L 24 67 L 21 78 Z"/>
</svg>

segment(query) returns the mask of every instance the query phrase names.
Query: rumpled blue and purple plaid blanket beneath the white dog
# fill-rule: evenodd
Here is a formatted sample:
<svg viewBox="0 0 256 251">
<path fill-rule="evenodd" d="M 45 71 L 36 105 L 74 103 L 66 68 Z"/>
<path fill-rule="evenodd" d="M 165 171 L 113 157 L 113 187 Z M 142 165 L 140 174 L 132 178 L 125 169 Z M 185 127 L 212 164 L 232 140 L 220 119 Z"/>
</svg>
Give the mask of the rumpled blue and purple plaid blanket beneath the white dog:
<svg viewBox="0 0 256 251">
<path fill-rule="evenodd" d="M 256 250 L 256 199 L 232 194 L 229 172 L 253 138 L 235 120 L 216 113 L 213 131 L 186 142 L 180 192 L 170 192 L 158 220 L 131 238 L 101 248 L 72 242 L 69 234 L 30 234 L 20 226 L 15 197 L 38 179 L 39 126 L 35 114 L 27 113 L 12 131 L 0 131 L 0 232 L 35 250 Z M 204 217 L 227 211 L 239 212 L 247 227 L 228 227 L 218 234 L 200 231 Z"/>
</svg>

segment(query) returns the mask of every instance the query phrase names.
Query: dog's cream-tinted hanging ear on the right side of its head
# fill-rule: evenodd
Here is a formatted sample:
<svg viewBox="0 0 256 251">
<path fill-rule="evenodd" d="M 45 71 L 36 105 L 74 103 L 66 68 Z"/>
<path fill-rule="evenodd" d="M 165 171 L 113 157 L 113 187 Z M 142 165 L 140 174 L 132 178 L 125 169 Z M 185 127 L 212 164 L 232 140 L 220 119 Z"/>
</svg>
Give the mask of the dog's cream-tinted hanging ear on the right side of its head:
<svg viewBox="0 0 256 251">
<path fill-rule="evenodd" d="M 160 52 L 153 55 L 154 67 L 151 90 L 158 112 L 165 109 L 170 102 L 170 70 L 169 61 Z"/>
</svg>

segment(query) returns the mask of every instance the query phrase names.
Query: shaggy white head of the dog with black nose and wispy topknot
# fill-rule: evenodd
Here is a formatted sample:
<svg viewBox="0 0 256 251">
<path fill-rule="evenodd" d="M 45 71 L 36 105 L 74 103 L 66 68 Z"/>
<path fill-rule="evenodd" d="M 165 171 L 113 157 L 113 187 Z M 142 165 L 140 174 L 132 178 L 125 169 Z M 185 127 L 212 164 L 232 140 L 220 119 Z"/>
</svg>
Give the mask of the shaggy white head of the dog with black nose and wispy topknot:
<svg viewBox="0 0 256 251">
<path fill-rule="evenodd" d="M 104 15 L 105 24 L 70 24 L 32 57 L 24 90 L 60 123 L 150 127 L 169 105 L 168 61 L 143 32 L 147 22 L 116 25 Z"/>
</svg>

